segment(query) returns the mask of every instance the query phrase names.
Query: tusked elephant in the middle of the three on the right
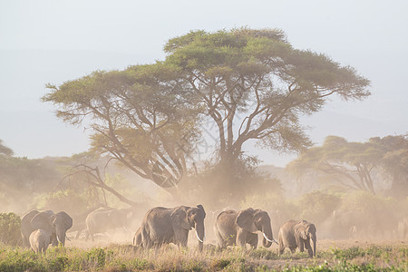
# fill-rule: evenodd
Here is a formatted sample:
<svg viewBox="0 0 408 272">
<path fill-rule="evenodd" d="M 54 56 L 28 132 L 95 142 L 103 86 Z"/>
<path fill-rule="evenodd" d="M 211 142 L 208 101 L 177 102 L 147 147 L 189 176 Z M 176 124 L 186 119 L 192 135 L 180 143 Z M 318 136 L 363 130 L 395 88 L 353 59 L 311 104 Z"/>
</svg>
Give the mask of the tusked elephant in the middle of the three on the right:
<svg viewBox="0 0 408 272">
<path fill-rule="evenodd" d="M 252 248 L 257 248 L 257 231 L 261 231 L 264 236 L 262 245 L 265 248 L 269 248 L 273 242 L 277 243 L 269 216 L 261 209 L 249 208 L 239 212 L 225 210 L 219 214 L 214 224 L 219 248 L 233 245 L 245 247 L 247 243 Z"/>
</svg>

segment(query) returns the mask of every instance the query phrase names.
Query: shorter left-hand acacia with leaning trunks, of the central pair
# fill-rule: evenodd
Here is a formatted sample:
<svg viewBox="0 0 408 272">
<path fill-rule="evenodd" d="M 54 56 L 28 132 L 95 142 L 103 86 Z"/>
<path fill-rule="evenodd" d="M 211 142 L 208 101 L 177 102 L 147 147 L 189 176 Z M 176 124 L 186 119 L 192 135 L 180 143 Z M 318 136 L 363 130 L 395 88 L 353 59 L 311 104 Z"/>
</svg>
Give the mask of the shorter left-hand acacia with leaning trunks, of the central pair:
<svg viewBox="0 0 408 272">
<path fill-rule="evenodd" d="M 94 151 L 170 188 L 184 176 L 186 155 L 199 138 L 196 106 L 182 84 L 169 65 L 137 65 L 48 84 L 43 100 L 59 108 L 63 121 L 81 124 L 90 117 Z"/>
</svg>

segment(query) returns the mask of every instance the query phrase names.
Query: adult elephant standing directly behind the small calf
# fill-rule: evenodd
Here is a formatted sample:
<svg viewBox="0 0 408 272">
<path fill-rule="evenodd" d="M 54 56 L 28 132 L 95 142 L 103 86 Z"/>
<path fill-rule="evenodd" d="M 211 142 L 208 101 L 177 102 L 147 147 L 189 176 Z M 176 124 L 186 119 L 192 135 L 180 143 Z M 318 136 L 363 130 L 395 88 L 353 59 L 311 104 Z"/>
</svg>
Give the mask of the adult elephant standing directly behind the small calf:
<svg viewBox="0 0 408 272">
<path fill-rule="evenodd" d="M 73 219 L 64 211 L 56 214 L 52 210 L 39 212 L 32 210 L 24 216 L 21 223 L 21 234 L 23 238 L 23 245 L 30 247 L 29 237 L 36 229 L 44 229 L 49 231 L 50 243 L 53 247 L 61 242 L 65 245 L 66 231 L 73 227 Z"/>
</svg>

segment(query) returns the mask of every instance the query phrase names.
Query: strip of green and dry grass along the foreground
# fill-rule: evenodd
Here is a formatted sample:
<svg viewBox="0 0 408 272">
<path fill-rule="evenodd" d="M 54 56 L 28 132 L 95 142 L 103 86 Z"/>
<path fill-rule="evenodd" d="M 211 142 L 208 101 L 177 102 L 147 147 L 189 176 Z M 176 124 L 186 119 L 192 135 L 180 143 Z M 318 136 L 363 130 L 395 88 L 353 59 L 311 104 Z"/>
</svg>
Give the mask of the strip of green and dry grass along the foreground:
<svg viewBox="0 0 408 272">
<path fill-rule="evenodd" d="M 257 248 L 164 247 L 143 250 L 131 245 L 106 248 L 48 248 L 36 255 L 28 248 L 0 246 L 0 271 L 408 271 L 408 247 L 328 248 L 315 258 L 305 252 L 277 256 Z"/>
</svg>

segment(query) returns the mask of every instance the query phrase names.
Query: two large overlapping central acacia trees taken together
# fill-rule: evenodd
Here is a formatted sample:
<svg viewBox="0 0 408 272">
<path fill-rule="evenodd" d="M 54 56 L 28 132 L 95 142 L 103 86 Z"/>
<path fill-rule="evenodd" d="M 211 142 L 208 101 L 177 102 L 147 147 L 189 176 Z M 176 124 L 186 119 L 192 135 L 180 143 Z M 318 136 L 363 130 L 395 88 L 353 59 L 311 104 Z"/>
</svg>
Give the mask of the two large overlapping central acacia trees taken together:
<svg viewBox="0 0 408 272">
<path fill-rule="evenodd" d="M 170 39 L 164 51 L 161 62 L 49 84 L 43 97 L 63 121 L 90 117 L 95 150 L 161 187 L 185 175 L 200 121 L 216 124 L 218 161 L 232 173 L 248 140 L 305 150 L 311 141 L 300 116 L 318 112 L 334 94 L 345 101 L 370 94 L 354 68 L 297 50 L 276 29 L 194 31 Z"/>
</svg>

